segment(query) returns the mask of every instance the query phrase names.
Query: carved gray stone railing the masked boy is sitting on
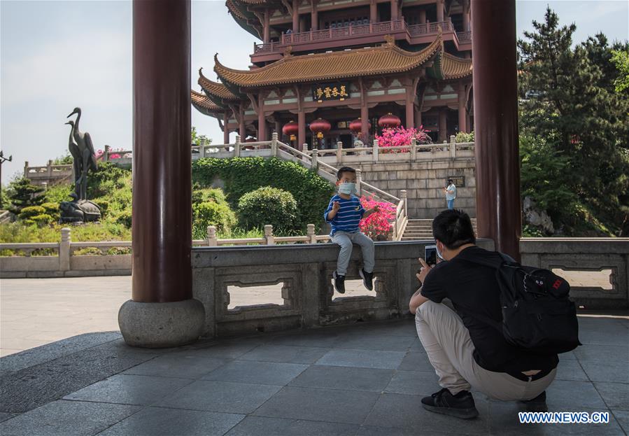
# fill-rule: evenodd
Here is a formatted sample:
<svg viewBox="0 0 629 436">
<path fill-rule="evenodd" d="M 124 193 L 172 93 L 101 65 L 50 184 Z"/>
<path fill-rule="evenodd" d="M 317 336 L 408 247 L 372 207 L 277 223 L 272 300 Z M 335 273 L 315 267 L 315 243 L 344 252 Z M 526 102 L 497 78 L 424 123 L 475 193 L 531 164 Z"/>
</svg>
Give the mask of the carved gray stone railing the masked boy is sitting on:
<svg viewBox="0 0 629 436">
<path fill-rule="evenodd" d="M 398 318 L 409 313 L 418 288 L 417 258 L 430 241 L 376 242 L 374 290 L 334 298 L 332 272 L 339 248 L 333 244 L 213 247 L 192 249 L 192 290 L 205 307 L 204 336 L 315 328 Z M 492 241 L 479 244 L 492 248 Z M 360 249 L 354 248 L 346 280 L 359 280 Z M 269 261 L 270 260 L 270 261 Z M 230 288 L 278 286 L 283 304 L 229 309 Z"/>
</svg>

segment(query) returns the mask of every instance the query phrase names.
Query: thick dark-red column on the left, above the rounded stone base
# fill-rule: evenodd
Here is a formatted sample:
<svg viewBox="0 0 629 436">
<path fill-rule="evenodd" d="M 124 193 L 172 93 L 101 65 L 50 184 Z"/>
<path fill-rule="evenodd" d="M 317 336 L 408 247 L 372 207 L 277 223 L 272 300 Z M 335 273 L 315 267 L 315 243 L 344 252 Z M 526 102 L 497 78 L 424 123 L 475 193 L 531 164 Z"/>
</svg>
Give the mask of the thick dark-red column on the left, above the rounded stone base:
<svg viewBox="0 0 629 436">
<path fill-rule="evenodd" d="M 133 3 L 133 125 L 132 300 L 189 300 L 190 1 Z"/>
</svg>

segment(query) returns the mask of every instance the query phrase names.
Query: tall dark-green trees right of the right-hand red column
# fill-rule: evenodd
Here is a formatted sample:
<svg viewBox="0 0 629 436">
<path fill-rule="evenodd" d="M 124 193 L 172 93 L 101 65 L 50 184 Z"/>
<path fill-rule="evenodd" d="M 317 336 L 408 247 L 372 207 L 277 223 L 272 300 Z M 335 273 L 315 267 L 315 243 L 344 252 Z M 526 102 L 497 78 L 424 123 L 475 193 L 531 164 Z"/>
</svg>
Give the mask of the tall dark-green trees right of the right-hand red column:
<svg viewBox="0 0 629 436">
<path fill-rule="evenodd" d="M 576 26 L 560 26 L 550 8 L 533 27 L 518 41 L 523 192 L 549 207 L 553 221 L 571 223 L 568 234 L 579 227 L 574 217 L 584 216 L 577 209 L 603 223 L 601 233 L 621 234 L 629 202 L 629 99 L 616 92 L 612 57 L 628 45 L 610 46 L 597 34 L 573 48 Z"/>
</svg>

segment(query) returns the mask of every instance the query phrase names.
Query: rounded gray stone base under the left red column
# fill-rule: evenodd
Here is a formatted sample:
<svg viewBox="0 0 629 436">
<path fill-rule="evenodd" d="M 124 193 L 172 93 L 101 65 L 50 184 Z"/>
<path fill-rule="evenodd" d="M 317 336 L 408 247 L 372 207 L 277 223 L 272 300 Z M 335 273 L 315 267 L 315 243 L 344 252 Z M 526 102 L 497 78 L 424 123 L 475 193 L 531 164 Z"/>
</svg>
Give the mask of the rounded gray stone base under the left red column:
<svg viewBox="0 0 629 436">
<path fill-rule="evenodd" d="M 167 348 L 190 344 L 203 331 L 205 309 L 199 300 L 141 303 L 129 300 L 118 312 L 118 325 L 130 346 Z"/>
</svg>

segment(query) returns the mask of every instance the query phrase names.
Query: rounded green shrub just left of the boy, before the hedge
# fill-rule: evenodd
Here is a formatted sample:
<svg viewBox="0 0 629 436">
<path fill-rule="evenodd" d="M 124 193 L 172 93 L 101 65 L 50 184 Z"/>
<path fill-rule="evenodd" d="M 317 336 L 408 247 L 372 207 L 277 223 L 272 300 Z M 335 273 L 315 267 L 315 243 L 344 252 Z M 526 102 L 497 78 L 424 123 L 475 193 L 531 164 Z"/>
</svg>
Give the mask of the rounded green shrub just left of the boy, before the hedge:
<svg viewBox="0 0 629 436">
<path fill-rule="evenodd" d="M 297 202 L 288 191 L 264 186 L 240 198 L 238 217 L 246 229 L 271 224 L 274 231 L 290 232 L 297 222 Z"/>
</svg>

